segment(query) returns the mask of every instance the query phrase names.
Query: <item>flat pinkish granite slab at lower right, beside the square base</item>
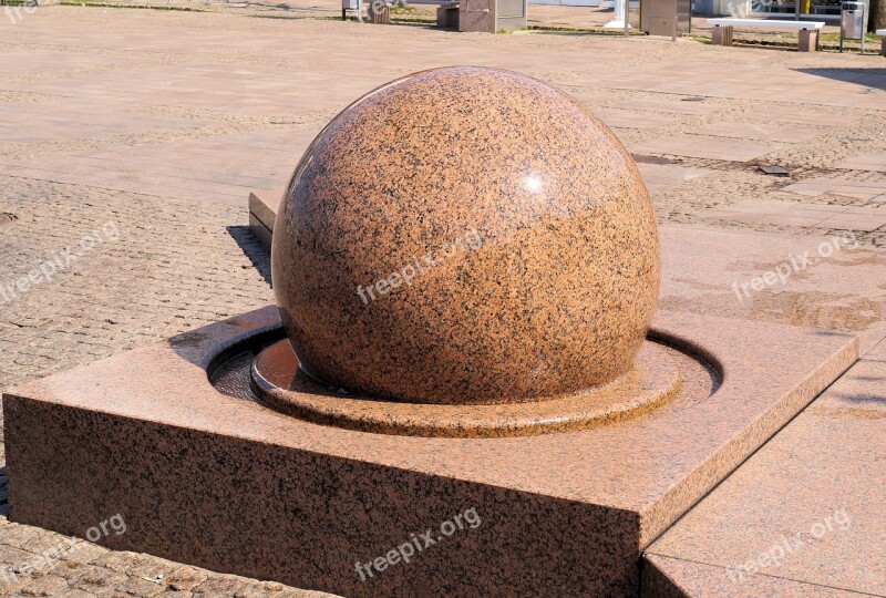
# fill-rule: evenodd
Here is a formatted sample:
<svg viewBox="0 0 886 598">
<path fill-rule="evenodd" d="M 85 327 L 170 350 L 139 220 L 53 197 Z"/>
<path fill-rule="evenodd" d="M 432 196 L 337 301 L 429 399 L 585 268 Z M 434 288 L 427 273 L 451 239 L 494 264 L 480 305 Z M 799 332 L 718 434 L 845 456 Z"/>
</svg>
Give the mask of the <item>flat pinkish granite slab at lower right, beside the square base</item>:
<svg viewBox="0 0 886 598">
<path fill-rule="evenodd" d="M 886 362 L 865 358 L 649 547 L 650 574 L 691 598 L 886 596 L 884 464 Z"/>
</svg>

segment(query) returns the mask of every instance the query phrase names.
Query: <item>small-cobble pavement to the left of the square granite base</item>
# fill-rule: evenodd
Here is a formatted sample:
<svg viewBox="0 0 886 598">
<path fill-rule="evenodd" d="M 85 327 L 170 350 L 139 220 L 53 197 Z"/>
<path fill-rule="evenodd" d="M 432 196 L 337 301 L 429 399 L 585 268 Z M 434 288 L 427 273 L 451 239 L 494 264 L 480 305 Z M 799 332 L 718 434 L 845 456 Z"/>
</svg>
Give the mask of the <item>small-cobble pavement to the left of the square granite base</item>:
<svg viewBox="0 0 886 598">
<path fill-rule="evenodd" d="M 10 272 L 34 270 L 45 260 L 58 267 L 55 258 L 68 248 L 79 255 L 70 265 L 62 259 L 66 267 L 51 281 L 7 297 L 11 300 L 0 297 L 0 389 L 272 301 L 268 256 L 248 233 L 243 209 L 11 176 L 0 176 L 0 206 L 19 215 L 0 230 L 3 282 Z M 84 236 L 101 241 L 83 251 Z M 4 481 L 0 492 L 4 497 Z M 324 596 L 86 540 L 71 544 L 0 517 L 2 596 L 158 594 Z"/>
</svg>

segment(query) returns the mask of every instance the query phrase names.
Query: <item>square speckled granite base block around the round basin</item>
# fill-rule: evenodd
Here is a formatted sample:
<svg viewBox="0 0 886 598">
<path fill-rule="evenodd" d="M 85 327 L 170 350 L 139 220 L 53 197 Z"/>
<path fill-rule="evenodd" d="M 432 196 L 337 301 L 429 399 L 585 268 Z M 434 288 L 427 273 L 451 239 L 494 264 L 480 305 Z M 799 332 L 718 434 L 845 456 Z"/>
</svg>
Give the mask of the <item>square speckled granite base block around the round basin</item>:
<svg viewBox="0 0 886 598">
<path fill-rule="evenodd" d="M 710 398 L 568 434 L 426 439 L 321 426 L 209 383 L 267 308 L 3 399 L 12 520 L 344 596 L 624 596 L 640 549 L 857 358 L 839 333 L 659 312 L 727 375 Z M 765 392 L 761 392 L 765 389 Z M 362 581 L 475 508 L 482 525 Z"/>
</svg>

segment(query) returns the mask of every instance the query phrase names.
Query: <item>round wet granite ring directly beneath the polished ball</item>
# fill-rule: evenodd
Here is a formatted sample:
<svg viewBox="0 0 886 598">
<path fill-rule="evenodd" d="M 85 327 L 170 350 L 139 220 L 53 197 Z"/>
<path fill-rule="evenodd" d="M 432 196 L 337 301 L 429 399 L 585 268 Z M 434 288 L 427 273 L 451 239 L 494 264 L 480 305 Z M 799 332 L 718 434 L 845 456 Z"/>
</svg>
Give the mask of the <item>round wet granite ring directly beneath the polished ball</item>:
<svg viewBox="0 0 886 598">
<path fill-rule="evenodd" d="M 648 341 L 626 375 L 557 399 L 495 405 L 394 403 L 318 384 L 299 370 L 289 341 L 281 340 L 255 361 L 250 385 L 265 404 L 282 413 L 348 430 L 435 437 L 528 436 L 627 421 L 680 393 L 684 401 L 702 401 L 719 384 L 705 365 Z"/>
</svg>

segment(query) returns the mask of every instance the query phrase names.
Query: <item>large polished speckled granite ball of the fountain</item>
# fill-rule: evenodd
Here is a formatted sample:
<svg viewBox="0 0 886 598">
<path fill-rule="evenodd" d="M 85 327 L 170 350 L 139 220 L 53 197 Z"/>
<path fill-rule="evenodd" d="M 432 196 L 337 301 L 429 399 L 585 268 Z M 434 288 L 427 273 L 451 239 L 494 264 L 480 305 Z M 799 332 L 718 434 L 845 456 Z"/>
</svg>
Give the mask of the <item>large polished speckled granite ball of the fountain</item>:
<svg viewBox="0 0 886 598">
<path fill-rule="evenodd" d="M 544 83 L 467 66 L 393 81 L 323 128 L 271 264 L 306 373 L 419 403 L 606 384 L 659 288 L 655 210 L 616 136 Z"/>
</svg>

